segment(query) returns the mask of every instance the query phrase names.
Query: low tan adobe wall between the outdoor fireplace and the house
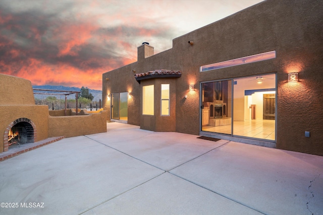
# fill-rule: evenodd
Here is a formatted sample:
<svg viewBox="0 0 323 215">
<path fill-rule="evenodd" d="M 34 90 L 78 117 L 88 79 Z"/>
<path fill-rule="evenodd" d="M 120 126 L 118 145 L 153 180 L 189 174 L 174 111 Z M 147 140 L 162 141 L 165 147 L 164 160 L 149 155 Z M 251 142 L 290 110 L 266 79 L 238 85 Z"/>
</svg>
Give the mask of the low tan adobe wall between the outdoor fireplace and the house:
<svg viewBox="0 0 323 215">
<path fill-rule="evenodd" d="M 48 137 L 106 132 L 106 111 L 80 116 L 48 116 Z"/>
</svg>

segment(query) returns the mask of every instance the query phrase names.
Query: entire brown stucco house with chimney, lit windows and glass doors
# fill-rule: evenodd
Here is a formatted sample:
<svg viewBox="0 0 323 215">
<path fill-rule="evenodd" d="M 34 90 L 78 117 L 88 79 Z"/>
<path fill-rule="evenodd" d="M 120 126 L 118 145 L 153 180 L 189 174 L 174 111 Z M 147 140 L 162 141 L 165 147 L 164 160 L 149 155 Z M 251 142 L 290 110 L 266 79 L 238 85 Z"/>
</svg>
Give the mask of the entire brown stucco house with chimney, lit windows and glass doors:
<svg viewBox="0 0 323 215">
<path fill-rule="evenodd" d="M 323 2 L 268 0 L 102 75 L 109 120 L 323 156 Z"/>
</svg>

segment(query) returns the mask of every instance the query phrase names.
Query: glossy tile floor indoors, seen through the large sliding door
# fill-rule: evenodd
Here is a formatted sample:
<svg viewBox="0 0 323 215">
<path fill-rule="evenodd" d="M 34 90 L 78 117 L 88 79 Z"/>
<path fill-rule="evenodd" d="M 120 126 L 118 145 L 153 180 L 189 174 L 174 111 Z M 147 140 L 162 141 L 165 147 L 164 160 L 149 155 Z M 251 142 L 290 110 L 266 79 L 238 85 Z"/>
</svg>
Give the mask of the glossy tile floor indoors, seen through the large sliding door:
<svg viewBox="0 0 323 215">
<path fill-rule="evenodd" d="M 202 126 L 203 131 L 231 134 L 231 124 Z M 233 122 L 233 135 L 275 140 L 275 120 L 253 119 Z"/>
</svg>

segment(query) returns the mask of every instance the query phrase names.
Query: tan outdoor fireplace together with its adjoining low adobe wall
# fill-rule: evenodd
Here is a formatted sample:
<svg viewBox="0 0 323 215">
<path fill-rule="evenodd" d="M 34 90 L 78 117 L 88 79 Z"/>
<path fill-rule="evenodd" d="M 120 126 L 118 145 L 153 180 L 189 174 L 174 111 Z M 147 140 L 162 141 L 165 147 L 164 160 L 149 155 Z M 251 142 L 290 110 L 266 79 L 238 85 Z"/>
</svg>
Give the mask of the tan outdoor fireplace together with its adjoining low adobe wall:
<svg viewBox="0 0 323 215">
<path fill-rule="evenodd" d="M 29 80 L 0 74 L 0 95 L 0 153 L 7 152 L 10 146 L 41 142 L 52 137 L 60 139 L 62 136 L 106 132 L 107 111 L 80 116 L 51 116 L 47 105 L 35 104 Z"/>
</svg>

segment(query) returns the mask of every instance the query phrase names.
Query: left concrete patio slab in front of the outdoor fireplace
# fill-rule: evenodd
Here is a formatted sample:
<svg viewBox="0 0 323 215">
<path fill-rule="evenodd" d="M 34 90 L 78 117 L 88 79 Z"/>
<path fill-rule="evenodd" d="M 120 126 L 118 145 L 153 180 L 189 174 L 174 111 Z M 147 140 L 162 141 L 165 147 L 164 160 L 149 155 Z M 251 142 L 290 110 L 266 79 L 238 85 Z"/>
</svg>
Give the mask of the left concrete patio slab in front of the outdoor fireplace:
<svg viewBox="0 0 323 215">
<path fill-rule="evenodd" d="M 0 214 L 80 214 L 163 172 L 85 136 L 65 138 L 1 162 L 0 202 L 19 207 Z M 44 207 L 21 206 L 30 202 Z"/>
</svg>

